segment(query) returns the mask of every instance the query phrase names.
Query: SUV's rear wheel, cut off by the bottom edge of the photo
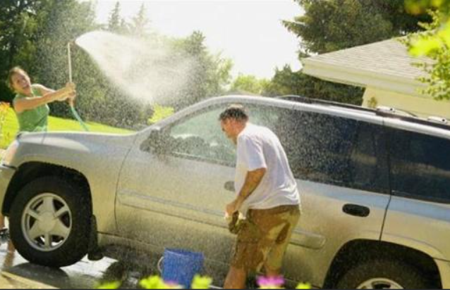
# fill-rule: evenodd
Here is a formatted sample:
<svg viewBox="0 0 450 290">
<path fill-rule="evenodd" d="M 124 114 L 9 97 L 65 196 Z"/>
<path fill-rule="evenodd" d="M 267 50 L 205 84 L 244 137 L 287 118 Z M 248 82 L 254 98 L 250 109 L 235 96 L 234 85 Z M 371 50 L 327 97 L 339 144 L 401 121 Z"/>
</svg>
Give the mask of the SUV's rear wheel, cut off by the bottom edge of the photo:
<svg viewBox="0 0 450 290">
<path fill-rule="evenodd" d="M 381 278 L 381 279 L 380 279 Z M 373 281 L 377 286 L 361 288 L 365 282 Z M 338 289 L 391 289 L 383 281 L 390 280 L 403 289 L 430 289 L 433 288 L 429 279 L 416 267 L 398 260 L 370 260 L 360 263 L 348 270 L 339 282 Z"/>
</svg>

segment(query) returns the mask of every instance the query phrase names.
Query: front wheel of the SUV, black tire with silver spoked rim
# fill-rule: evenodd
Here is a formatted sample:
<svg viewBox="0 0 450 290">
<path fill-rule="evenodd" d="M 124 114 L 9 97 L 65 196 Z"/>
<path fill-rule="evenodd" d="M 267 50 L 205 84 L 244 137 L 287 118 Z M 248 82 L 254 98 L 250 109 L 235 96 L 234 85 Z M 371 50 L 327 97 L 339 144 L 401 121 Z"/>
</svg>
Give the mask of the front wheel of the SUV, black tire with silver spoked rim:
<svg viewBox="0 0 450 290">
<path fill-rule="evenodd" d="M 57 211 L 57 206 L 61 206 L 63 203 L 66 203 L 66 208 L 68 208 L 67 213 L 61 215 L 61 219 L 58 218 L 67 226 L 66 239 L 50 235 L 47 240 L 56 246 L 47 251 L 44 249 L 44 238 L 38 237 L 35 240 L 27 238 L 30 235 L 27 235 L 25 227 L 30 225 L 32 228 L 33 222 L 37 223 L 37 219 L 33 220 L 33 217 L 27 217 L 31 215 L 24 214 L 27 211 L 26 208 L 32 206 L 34 201 L 43 207 L 44 201 L 39 203 L 39 198 L 44 196 L 54 198 L 51 199 L 54 211 Z M 63 203 L 59 203 L 59 201 L 63 201 Z M 44 212 L 44 210 L 36 210 L 36 212 L 40 211 Z M 62 177 L 41 177 L 25 185 L 14 199 L 10 215 L 11 239 L 20 255 L 32 263 L 48 267 L 72 265 L 87 253 L 91 215 L 90 198 L 80 187 Z M 49 222 L 45 224 L 42 222 L 44 226 L 48 224 Z"/>
</svg>

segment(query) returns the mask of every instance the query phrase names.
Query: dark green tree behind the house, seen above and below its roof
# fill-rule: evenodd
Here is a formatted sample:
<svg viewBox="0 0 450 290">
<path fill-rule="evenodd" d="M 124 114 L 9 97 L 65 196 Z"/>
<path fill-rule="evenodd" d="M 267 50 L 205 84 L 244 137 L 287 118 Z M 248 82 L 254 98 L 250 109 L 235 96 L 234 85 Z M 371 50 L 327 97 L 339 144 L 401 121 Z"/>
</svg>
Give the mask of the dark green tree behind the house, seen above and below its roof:
<svg viewBox="0 0 450 290">
<path fill-rule="evenodd" d="M 400 0 L 294 0 L 305 13 L 284 26 L 301 39 L 299 58 L 369 44 L 420 28 L 427 16 L 409 15 Z M 270 94 L 300 94 L 318 99 L 361 103 L 363 90 L 304 76 L 302 71 L 276 70 Z M 279 93 L 281 93 L 279 92 Z"/>
</svg>

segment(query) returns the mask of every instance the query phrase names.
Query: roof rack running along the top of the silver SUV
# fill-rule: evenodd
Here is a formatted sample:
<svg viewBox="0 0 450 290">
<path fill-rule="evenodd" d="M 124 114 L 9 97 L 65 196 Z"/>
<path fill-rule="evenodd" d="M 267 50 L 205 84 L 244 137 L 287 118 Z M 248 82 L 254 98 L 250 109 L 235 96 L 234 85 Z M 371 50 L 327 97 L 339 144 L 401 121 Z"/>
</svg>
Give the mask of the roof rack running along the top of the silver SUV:
<svg viewBox="0 0 450 290">
<path fill-rule="evenodd" d="M 375 113 L 376 115 L 379 115 L 382 117 L 393 118 L 393 119 L 397 119 L 397 120 L 413 122 L 415 124 L 427 125 L 430 127 L 437 127 L 437 128 L 441 128 L 441 129 L 450 130 L 450 123 L 444 122 L 444 120 L 438 121 L 437 118 L 422 119 L 411 112 L 398 110 L 398 109 L 394 109 L 394 108 L 389 108 L 389 107 L 379 107 L 379 108 L 377 108 L 377 110 L 375 110 L 372 108 L 355 106 L 355 105 L 351 105 L 348 103 L 339 103 L 336 101 L 311 99 L 311 98 L 308 98 L 305 96 L 296 96 L 296 95 L 276 96 L 276 99 L 283 99 L 286 101 L 296 101 L 299 103 L 310 103 L 310 104 L 318 104 L 318 105 L 325 105 L 325 106 L 337 106 L 337 107 L 341 107 L 341 108 L 349 108 L 349 109 L 357 110 L 357 111 Z M 399 115 L 399 113 L 401 113 L 401 115 Z M 440 119 L 444 119 L 444 118 L 440 118 Z"/>
</svg>

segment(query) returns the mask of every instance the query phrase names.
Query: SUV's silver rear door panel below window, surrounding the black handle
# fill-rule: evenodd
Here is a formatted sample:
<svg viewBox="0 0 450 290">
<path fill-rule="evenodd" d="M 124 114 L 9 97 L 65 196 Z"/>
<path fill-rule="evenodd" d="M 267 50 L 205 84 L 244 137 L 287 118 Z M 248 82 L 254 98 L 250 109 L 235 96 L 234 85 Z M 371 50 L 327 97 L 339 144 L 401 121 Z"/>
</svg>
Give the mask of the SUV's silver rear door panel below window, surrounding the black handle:
<svg viewBox="0 0 450 290">
<path fill-rule="evenodd" d="M 379 240 L 389 195 L 297 180 L 302 215 L 284 260 L 286 277 L 323 286 L 339 250 L 355 239 Z M 370 208 L 367 217 L 343 213 L 352 203 Z"/>
</svg>

